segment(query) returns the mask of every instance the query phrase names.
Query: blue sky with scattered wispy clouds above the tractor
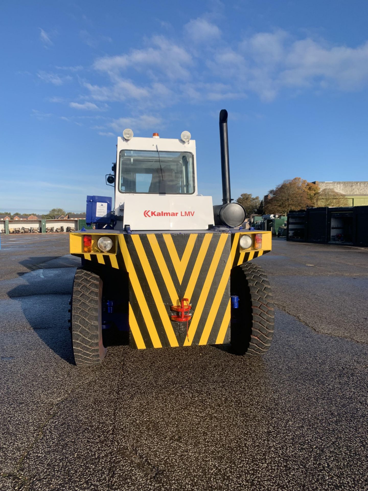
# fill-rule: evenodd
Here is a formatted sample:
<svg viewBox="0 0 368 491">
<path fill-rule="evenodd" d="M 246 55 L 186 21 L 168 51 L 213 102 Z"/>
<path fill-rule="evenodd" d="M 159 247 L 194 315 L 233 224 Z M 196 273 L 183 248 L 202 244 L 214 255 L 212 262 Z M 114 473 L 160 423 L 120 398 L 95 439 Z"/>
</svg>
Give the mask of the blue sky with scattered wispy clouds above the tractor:
<svg viewBox="0 0 368 491">
<path fill-rule="evenodd" d="M 189 130 L 199 192 L 220 202 L 220 109 L 233 198 L 368 180 L 367 16 L 367 1 L 3 0 L 0 211 L 111 195 L 127 127 Z"/>
</svg>

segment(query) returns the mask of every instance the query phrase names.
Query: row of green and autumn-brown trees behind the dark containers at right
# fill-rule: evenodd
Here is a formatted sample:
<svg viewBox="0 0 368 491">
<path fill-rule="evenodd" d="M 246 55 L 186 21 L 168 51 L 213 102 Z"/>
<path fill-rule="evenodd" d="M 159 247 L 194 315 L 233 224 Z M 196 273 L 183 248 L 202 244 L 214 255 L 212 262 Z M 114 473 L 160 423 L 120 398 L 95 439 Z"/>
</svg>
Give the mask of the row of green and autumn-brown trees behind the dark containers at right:
<svg viewBox="0 0 368 491">
<path fill-rule="evenodd" d="M 304 210 L 314 206 L 347 206 L 348 200 L 333 189 L 320 190 L 319 186 L 300 177 L 287 179 L 268 191 L 265 202 L 259 196 L 243 193 L 237 198 L 249 216 L 274 213 L 286 216 L 291 210 Z"/>
</svg>

